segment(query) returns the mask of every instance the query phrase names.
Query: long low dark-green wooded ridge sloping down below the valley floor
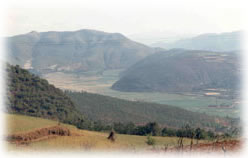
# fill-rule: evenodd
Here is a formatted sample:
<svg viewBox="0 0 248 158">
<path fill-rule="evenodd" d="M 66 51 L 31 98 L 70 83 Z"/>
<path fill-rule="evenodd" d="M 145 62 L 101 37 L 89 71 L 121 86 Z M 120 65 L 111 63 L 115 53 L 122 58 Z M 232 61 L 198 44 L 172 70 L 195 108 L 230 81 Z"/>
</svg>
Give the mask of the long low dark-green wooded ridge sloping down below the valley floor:
<svg viewBox="0 0 248 158">
<path fill-rule="evenodd" d="M 80 112 L 94 121 L 100 120 L 105 123 L 133 122 L 136 125 L 155 121 L 161 126 L 173 128 L 180 128 L 185 124 L 192 127 L 214 127 L 217 125 L 217 117 L 168 105 L 127 101 L 87 92 L 67 91 L 66 94 Z"/>
</svg>

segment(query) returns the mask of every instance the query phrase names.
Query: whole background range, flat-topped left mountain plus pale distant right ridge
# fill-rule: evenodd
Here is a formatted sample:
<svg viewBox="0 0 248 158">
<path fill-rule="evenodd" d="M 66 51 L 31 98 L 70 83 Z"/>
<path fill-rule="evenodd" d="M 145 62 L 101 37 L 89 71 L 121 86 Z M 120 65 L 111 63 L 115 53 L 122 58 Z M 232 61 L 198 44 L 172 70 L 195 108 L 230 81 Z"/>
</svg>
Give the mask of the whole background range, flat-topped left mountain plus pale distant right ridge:
<svg viewBox="0 0 248 158">
<path fill-rule="evenodd" d="M 233 52 L 240 50 L 241 32 L 202 34 L 148 47 L 120 33 L 96 30 L 36 32 L 6 38 L 9 63 L 37 73 L 102 72 L 127 69 L 146 56 L 171 48 Z M 160 47 L 160 48 L 158 48 Z"/>
</svg>

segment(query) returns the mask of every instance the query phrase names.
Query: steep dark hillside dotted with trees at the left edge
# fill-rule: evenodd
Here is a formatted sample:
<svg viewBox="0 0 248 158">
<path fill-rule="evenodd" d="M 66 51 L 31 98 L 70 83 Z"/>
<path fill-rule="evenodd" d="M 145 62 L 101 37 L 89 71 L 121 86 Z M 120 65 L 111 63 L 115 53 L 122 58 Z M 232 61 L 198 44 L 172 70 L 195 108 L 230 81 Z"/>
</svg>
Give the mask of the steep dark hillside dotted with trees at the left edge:
<svg viewBox="0 0 248 158">
<path fill-rule="evenodd" d="M 7 65 L 9 113 L 53 119 L 83 126 L 87 121 L 60 89 L 19 66 Z"/>
</svg>

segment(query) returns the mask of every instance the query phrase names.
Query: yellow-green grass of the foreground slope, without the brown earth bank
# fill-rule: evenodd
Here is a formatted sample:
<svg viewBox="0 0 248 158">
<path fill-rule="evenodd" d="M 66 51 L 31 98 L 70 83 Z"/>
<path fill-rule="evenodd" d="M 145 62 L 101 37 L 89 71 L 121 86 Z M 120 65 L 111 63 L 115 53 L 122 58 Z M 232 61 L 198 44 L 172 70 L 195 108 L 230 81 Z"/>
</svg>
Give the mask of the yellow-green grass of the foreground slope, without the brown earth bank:
<svg viewBox="0 0 248 158">
<path fill-rule="evenodd" d="M 7 121 L 7 133 L 16 134 L 33 131 L 44 127 L 54 126 L 56 121 L 24 116 L 15 114 L 5 114 Z M 26 145 L 16 145 L 7 143 L 8 150 L 22 150 L 22 151 L 37 151 L 37 150 L 131 150 L 136 151 L 138 149 L 149 149 L 146 144 L 146 136 L 134 136 L 134 135 L 116 135 L 116 141 L 111 142 L 107 139 L 108 133 L 92 132 L 87 130 L 79 130 L 74 126 L 61 124 L 61 126 L 67 127 L 69 130 L 78 134 L 78 136 L 57 136 L 55 138 L 46 139 L 42 141 L 31 142 Z M 156 147 L 163 147 L 168 145 L 169 147 L 177 145 L 177 137 L 152 137 L 156 140 Z M 200 142 L 206 142 L 200 140 Z M 189 145 L 190 139 L 185 138 L 184 144 Z"/>
</svg>

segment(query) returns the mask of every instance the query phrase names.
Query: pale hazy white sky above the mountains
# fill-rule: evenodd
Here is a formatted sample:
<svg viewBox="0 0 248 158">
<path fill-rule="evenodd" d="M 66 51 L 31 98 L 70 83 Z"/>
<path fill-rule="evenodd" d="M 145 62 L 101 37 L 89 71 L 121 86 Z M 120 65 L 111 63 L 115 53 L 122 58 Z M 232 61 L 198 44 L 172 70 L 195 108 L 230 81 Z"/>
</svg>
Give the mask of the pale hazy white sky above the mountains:
<svg viewBox="0 0 248 158">
<path fill-rule="evenodd" d="M 242 29 L 243 7 L 239 0 L 9 0 L 4 34 L 78 29 L 125 35 L 229 32 Z"/>
</svg>

